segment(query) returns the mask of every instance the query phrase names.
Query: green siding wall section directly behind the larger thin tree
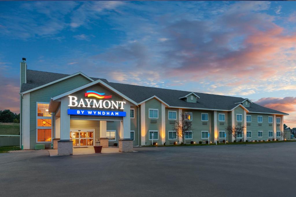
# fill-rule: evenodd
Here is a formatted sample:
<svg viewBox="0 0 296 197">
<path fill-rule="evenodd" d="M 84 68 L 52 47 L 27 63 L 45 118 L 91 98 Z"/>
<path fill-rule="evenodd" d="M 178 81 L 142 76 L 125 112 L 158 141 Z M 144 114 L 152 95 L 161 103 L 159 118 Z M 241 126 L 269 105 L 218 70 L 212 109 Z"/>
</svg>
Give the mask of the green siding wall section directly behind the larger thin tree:
<svg viewBox="0 0 296 197">
<path fill-rule="evenodd" d="M 190 141 L 207 141 L 207 139 L 202 139 L 202 131 L 208 131 L 210 133 L 210 141 L 214 141 L 214 132 L 213 132 L 213 111 L 205 111 L 205 110 L 182 110 L 182 114 L 185 112 L 192 112 L 192 139 L 186 139 L 186 143 L 190 143 Z M 208 114 L 208 121 L 201 121 L 201 113 Z M 202 124 L 203 122 L 207 123 L 206 125 Z"/>
</svg>

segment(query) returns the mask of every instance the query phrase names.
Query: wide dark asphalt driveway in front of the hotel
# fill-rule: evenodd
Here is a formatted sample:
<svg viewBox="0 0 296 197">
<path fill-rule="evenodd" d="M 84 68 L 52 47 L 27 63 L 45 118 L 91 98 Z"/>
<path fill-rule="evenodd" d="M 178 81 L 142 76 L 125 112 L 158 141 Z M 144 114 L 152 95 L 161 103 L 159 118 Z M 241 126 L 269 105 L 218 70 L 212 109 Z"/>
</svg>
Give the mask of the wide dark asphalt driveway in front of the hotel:
<svg viewBox="0 0 296 197">
<path fill-rule="evenodd" d="M 296 196 L 296 142 L 0 154 L 0 196 Z"/>
</svg>

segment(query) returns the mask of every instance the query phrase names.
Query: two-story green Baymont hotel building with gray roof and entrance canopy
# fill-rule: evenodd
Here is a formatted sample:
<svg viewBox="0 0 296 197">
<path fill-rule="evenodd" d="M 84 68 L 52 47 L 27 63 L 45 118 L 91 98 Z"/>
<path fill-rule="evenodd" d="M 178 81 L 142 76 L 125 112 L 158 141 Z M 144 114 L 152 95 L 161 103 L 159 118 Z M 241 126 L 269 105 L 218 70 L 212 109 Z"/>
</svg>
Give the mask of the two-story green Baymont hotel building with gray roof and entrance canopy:
<svg viewBox="0 0 296 197">
<path fill-rule="evenodd" d="M 109 82 L 78 72 L 57 74 L 28 70 L 20 62 L 20 143 L 58 149 L 73 147 L 133 146 L 181 143 L 174 125 L 180 114 L 189 115 L 191 141 L 234 141 L 227 126 L 245 125 L 238 140 L 282 139 L 283 113 L 248 98 Z M 226 134 L 226 135 L 225 135 Z"/>
</svg>

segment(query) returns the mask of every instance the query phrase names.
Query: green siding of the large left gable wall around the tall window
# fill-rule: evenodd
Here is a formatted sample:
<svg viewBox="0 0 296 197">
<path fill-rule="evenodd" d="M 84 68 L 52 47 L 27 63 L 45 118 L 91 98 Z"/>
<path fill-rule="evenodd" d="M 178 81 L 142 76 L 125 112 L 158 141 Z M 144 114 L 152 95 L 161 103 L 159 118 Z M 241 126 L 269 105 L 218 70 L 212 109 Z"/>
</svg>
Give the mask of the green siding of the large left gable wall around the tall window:
<svg viewBox="0 0 296 197">
<path fill-rule="evenodd" d="M 44 88 L 30 92 L 30 149 L 34 149 L 36 144 L 50 143 L 36 143 L 36 102 L 50 102 L 50 98 L 68 92 L 77 87 L 88 84 L 90 81 L 81 75 L 73 76 L 61 82 L 46 86 Z"/>
</svg>

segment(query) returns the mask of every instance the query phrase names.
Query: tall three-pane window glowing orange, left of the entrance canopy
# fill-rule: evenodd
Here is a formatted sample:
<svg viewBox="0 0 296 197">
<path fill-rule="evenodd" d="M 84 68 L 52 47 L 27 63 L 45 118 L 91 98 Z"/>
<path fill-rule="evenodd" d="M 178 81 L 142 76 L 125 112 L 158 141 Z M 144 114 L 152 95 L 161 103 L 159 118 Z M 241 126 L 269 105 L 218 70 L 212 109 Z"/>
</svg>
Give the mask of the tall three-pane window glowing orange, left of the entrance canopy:
<svg viewBox="0 0 296 197">
<path fill-rule="evenodd" d="M 48 103 L 37 103 L 37 142 L 52 142 L 52 115 L 49 114 L 48 107 Z"/>
</svg>

